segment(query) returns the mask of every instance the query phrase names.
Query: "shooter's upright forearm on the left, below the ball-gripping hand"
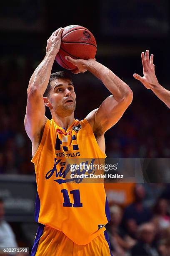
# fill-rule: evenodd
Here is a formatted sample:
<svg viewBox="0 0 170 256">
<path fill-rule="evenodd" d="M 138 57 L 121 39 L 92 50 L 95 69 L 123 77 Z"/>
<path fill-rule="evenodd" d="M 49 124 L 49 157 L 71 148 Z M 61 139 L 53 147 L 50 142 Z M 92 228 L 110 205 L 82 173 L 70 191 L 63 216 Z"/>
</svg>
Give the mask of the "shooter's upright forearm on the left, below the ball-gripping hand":
<svg viewBox="0 0 170 256">
<path fill-rule="evenodd" d="M 37 89 L 42 95 L 47 89 L 47 85 L 50 79 L 52 65 L 54 63 L 56 52 L 53 49 L 50 49 L 45 58 L 42 60 L 40 65 L 35 69 L 34 73 L 30 78 L 28 85 L 29 90 Z"/>
</svg>

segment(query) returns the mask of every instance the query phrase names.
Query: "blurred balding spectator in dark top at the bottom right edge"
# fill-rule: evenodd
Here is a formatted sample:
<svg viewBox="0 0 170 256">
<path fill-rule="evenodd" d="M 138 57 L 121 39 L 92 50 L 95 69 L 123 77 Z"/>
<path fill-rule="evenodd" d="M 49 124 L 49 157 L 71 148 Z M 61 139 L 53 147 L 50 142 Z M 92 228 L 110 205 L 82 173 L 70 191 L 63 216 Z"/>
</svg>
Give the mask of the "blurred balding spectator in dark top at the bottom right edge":
<svg viewBox="0 0 170 256">
<path fill-rule="evenodd" d="M 153 223 L 145 223 L 138 227 L 138 242 L 131 249 L 131 256 L 158 256 L 159 253 L 153 241 L 155 238 L 155 226 Z"/>
</svg>

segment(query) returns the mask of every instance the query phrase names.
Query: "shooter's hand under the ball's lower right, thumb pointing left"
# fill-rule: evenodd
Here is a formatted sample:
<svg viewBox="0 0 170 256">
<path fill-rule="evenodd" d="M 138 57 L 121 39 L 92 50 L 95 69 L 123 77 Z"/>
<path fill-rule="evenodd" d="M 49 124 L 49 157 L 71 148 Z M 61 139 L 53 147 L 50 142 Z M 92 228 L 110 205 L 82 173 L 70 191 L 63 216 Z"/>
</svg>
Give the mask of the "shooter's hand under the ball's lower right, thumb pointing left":
<svg viewBox="0 0 170 256">
<path fill-rule="evenodd" d="M 77 67 L 77 69 L 73 70 L 72 73 L 78 74 L 78 73 L 84 73 L 87 71 L 87 63 L 89 60 L 95 60 L 95 59 L 89 59 L 88 61 L 85 59 L 72 59 L 70 56 L 65 56 L 65 59 L 67 61 L 70 61 L 73 65 Z"/>
</svg>

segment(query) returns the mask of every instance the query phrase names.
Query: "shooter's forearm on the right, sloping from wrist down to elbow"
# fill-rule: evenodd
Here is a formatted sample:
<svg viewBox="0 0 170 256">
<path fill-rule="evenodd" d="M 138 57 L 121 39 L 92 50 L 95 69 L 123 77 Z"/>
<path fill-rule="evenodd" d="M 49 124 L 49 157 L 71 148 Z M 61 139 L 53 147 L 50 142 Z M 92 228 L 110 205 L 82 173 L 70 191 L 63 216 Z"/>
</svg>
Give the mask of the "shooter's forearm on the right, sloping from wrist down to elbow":
<svg viewBox="0 0 170 256">
<path fill-rule="evenodd" d="M 99 62 L 93 60 L 88 61 L 87 70 L 105 84 L 105 87 L 107 87 L 107 89 L 112 93 L 115 100 L 119 101 L 125 97 L 132 97 L 133 92 L 130 87 L 117 77 L 110 69 Z"/>
</svg>

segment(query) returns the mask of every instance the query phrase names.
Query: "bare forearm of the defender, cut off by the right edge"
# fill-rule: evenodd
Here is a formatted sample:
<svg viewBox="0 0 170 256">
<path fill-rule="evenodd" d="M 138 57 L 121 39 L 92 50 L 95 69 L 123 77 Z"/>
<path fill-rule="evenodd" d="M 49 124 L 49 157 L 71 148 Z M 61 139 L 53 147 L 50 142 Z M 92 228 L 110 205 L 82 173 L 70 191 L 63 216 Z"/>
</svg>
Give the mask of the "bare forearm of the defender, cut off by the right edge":
<svg viewBox="0 0 170 256">
<path fill-rule="evenodd" d="M 165 89 L 160 84 L 155 85 L 151 88 L 151 90 L 155 93 L 156 96 L 158 96 L 160 100 L 162 100 L 168 106 L 168 108 L 170 108 L 170 91 Z"/>
</svg>

